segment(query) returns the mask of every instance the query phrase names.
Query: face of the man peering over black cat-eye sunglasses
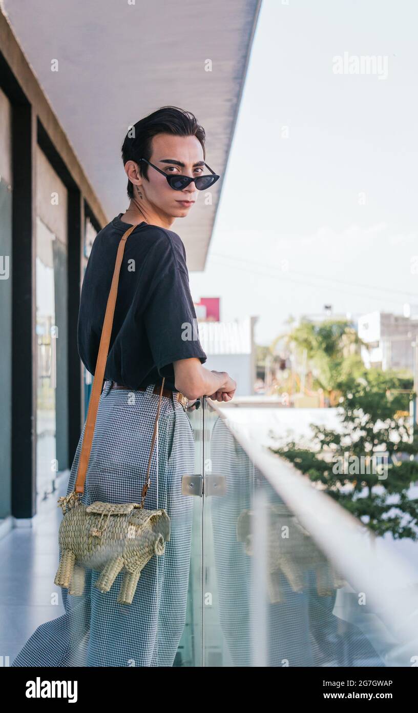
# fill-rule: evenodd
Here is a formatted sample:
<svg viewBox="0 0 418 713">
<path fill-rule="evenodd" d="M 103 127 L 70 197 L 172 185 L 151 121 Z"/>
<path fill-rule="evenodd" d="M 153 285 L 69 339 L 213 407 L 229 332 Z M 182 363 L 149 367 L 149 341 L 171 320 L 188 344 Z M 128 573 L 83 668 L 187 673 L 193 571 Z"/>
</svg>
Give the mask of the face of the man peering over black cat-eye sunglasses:
<svg viewBox="0 0 418 713">
<path fill-rule="evenodd" d="M 157 134 L 152 139 L 150 163 L 164 171 L 165 175 L 186 175 L 197 178 L 208 173 L 203 161 L 202 145 L 196 136 L 173 136 L 163 133 Z M 150 202 L 158 212 L 172 217 L 188 215 L 199 193 L 194 183 L 189 183 L 183 190 L 174 190 L 170 188 L 164 175 L 145 162 L 141 163 L 142 167 L 147 166 L 148 181 L 142 179 L 140 186 L 134 185 L 134 195 L 138 202 L 141 204 L 137 194 L 139 188 L 145 200 Z M 189 201 L 189 204 L 183 204 L 182 201 Z"/>
</svg>

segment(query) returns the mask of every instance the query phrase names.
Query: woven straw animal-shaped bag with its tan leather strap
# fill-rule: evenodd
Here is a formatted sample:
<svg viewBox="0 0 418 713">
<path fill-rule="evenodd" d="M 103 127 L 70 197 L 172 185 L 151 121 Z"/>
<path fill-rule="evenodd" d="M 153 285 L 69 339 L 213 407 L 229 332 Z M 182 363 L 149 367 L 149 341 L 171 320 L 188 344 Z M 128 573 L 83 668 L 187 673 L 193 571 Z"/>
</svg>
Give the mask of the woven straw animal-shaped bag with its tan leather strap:
<svg viewBox="0 0 418 713">
<path fill-rule="evenodd" d="M 58 535 L 61 560 L 54 580 L 58 587 L 68 588 L 70 595 L 80 597 L 84 591 L 85 568 L 100 572 L 100 577 L 95 582 L 95 587 L 103 593 L 110 590 L 117 575 L 123 571 L 123 579 L 117 597 L 117 601 L 120 604 L 132 604 L 142 568 L 145 567 L 153 555 L 162 555 L 164 553 L 165 542 L 169 540 L 170 535 L 170 520 L 167 512 L 162 509 L 145 510 L 144 508 L 145 496 L 150 485 L 152 451 L 157 436 L 164 377 L 152 434 L 147 477 L 142 487 L 141 502 L 95 502 L 85 506 L 80 501 L 84 492 L 85 475 L 93 443 L 100 393 L 103 388 L 120 266 L 122 265 L 127 237 L 135 227 L 135 225 L 132 225 L 122 235 L 117 247 L 115 270 L 100 337 L 98 360 L 85 421 L 75 490 L 70 495 L 58 500 L 58 507 L 61 507 L 63 511 L 63 520 L 61 520 Z"/>
</svg>

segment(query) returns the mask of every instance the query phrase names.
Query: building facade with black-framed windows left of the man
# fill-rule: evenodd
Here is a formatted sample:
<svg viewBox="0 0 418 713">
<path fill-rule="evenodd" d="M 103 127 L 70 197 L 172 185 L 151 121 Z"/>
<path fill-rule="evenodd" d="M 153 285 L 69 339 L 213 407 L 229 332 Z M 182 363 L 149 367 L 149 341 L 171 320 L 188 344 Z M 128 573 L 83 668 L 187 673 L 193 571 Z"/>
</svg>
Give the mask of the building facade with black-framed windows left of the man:
<svg viewBox="0 0 418 713">
<path fill-rule="evenodd" d="M 0 533 L 68 476 L 89 381 L 75 339 L 91 242 L 107 221 L 0 14 Z"/>
</svg>

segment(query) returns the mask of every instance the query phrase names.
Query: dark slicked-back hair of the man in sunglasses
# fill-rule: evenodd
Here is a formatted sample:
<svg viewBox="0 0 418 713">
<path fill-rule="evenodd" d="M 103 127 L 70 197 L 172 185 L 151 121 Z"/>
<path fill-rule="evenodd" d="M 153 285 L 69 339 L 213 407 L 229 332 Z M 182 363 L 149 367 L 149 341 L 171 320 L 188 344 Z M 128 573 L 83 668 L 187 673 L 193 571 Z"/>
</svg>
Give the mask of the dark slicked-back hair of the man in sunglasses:
<svg viewBox="0 0 418 713">
<path fill-rule="evenodd" d="M 162 106 L 152 114 L 137 121 L 130 128 L 122 144 L 123 165 L 127 161 L 135 161 L 140 168 L 140 174 L 148 180 L 148 164 L 140 161 L 146 158 L 148 161 L 152 155 L 152 138 L 159 133 L 169 133 L 175 136 L 196 136 L 199 139 L 203 158 L 206 158 L 204 142 L 206 135 L 204 128 L 197 123 L 197 118 L 190 111 L 184 111 L 178 106 Z M 133 185 L 128 180 L 127 195 L 133 198 Z"/>
</svg>

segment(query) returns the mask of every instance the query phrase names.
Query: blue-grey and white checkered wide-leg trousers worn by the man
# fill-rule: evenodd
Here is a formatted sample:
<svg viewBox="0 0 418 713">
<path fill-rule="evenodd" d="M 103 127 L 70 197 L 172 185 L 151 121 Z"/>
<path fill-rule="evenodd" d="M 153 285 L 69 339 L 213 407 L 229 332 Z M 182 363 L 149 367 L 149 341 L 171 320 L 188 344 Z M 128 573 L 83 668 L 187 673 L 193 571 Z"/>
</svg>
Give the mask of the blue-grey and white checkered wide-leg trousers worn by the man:
<svg viewBox="0 0 418 713">
<path fill-rule="evenodd" d="M 159 395 L 110 389 L 106 381 L 82 501 L 140 503 Z M 70 471 L 74 490 L 85 426 Z M 172 666 L 184 629 L 192 535 L 192 496 L 182 495 L 182 475 L 193 473 L 194 435 L 182 404 L 162 396 L 145 498 L 148 510 L 164 508 L 171 535 L 163 555 L 142 569 L 132 604 L 117 602 L 122 573 L 108 593 L 93 585 L 100 573 L 86 570 L 82 597 L 62 589 L 66 613 L 39 626 L 12 666 Z M 60 552 L 61 557 L 61 552 Z M 57 563 L 58 567 L 58 563 Z"/>
</svg>

